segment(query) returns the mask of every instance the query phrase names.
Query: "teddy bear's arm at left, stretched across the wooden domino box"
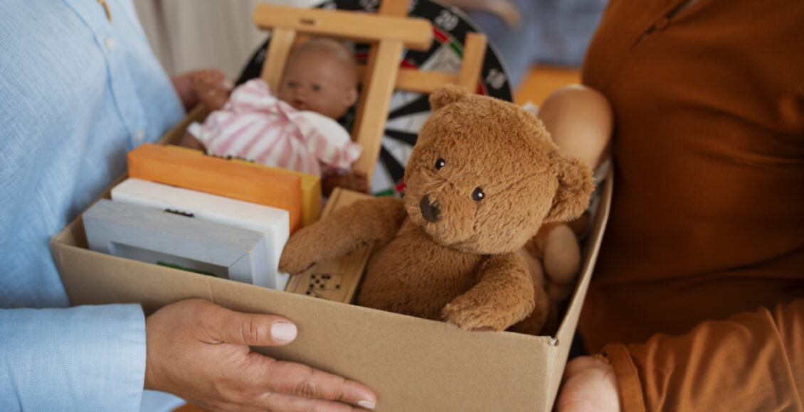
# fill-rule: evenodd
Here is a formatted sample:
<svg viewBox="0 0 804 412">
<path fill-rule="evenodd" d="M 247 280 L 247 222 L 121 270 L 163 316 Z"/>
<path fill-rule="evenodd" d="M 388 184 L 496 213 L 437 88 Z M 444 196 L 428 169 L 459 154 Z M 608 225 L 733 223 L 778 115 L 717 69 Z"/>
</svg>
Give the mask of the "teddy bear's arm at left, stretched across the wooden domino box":
<svg viewBox="0 0 804 412">
<path fill-rule="evenodd" d="M 407 216 L 399 198 L 364 199 L 338 208 L 290 236 L 279 259 L 279 270 L 295 275 L 371 241 L 387 243 Z"/>
</svg>

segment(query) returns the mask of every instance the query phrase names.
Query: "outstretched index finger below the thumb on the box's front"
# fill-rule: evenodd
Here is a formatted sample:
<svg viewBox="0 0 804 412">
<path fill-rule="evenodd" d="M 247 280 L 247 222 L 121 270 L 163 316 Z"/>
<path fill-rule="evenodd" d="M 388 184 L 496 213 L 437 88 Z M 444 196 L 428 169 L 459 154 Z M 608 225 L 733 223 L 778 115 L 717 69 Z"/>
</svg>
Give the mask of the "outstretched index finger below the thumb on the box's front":
<svg viewBox="0 0 804 412">
<path fill-rule="evenodd" d="M 299 398 L 318 398 L 345 402 L 374 409 L 377 397 L 366 385 L 289 361 L 263 358 L 271 373 L 265 377 L 265 387 L 273 392 Z"/>
</svg>

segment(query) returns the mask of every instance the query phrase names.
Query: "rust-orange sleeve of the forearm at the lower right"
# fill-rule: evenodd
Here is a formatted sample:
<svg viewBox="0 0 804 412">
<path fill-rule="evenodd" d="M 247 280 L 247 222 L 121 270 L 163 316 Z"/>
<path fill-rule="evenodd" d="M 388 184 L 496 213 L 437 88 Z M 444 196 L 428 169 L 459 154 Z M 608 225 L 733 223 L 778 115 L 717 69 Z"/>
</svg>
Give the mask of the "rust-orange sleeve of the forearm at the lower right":
<svg viewBox="0 0 804 412">
<path fill-rule="evenodd" d="M 804 409 L 804 299 L 603 352 L 624 412 Z"/>
</svg>

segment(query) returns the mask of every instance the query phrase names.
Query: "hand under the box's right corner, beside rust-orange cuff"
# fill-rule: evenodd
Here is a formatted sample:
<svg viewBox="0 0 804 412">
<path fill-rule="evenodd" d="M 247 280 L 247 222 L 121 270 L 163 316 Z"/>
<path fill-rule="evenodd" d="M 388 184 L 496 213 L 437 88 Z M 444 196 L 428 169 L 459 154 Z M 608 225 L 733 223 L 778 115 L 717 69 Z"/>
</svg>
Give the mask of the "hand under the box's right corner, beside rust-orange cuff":
<svg viewBox="0 0 804 412">
<path fill-rule="evenodd" d="M 614 367 L 598 357 L 576 357 L 567 363 L 558 412 L 619 411 L 620 398 Z"/>
</svg>

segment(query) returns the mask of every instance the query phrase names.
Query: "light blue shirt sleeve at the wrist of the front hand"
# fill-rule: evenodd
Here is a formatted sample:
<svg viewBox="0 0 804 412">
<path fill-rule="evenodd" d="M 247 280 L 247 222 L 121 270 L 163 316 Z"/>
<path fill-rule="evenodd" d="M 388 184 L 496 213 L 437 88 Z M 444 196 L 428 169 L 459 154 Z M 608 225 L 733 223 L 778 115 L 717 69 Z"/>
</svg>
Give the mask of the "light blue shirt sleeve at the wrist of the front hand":
<svg viewBox="0 0 804 412">
<path fill-rule="evenodd" d="M 139 410 L 139 305 L 2 309 L 0 348 L 0 410 Z"/>
</svg>

